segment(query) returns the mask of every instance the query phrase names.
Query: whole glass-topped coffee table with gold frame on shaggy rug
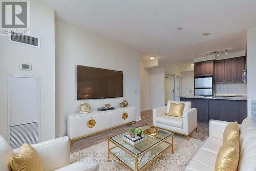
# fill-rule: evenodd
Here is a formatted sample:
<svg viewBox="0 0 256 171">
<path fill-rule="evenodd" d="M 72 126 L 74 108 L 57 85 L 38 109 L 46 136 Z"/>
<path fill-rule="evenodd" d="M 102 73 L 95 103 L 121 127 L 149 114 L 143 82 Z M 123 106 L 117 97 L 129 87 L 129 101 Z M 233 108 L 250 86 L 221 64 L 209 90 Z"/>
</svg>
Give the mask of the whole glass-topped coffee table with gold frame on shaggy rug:
<svg viewBox="0 0 256 171">
<path fill-rule="evenodd" d="M 108 138 L 108 161 L 113 155 L 117 161 L 121 162 L 129 170 L 142 170 L 148 164 L 153 162 L 159 155 L 172 147 L 174 151 L 174 134 L 170 131 L 158 129 L 157 134 L 149 134 L 145 130 L 150 128 L 150 125 L 142 125 L 136 127 L 141 128 L 143 133 L 141 137 L 144 138 L 142 142 L 136 145 L 131 145 L 123 141 L 123 135 L 129 134 L 125 132 L 114 137 Z M 167 141 L 172 138 L 172 140 Z"/>
</svg>

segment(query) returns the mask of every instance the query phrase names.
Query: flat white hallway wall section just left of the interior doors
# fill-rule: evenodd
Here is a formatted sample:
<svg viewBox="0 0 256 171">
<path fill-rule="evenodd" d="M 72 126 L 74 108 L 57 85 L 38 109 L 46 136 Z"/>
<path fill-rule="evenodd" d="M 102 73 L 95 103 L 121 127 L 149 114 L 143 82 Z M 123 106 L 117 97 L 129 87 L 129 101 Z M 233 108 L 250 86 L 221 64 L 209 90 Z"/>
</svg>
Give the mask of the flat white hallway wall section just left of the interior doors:
<svg viewBox="0 0 256 171">
<path fill-rule="evenodd" d="M 150 70 L 150 108 L 164 106 L 164 68 Z"/>
</svg>

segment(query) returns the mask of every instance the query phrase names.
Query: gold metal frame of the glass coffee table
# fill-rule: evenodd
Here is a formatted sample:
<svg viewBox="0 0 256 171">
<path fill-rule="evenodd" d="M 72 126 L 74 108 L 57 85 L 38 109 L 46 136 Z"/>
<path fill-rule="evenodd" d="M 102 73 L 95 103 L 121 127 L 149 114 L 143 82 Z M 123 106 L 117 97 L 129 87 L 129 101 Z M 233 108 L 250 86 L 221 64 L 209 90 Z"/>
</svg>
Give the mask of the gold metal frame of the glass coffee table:
<svg viewBox="0 0 256 171">
<path fill-rule="evenodd" d="M 141 126 L 138 126 L 138 127 L 143 127 L 143 126 L 148 126 L 148 127 L 149 127 L 150 125 L 144 124 L 144 125 L 141 125 Z M 138 127 L 136 127 L 136 128 L 138 128 Z M 123 135 L 123 134 L 126 133 L 126 132 L 124 132 L 124 133 L 122 133 L 122 134 L 118 134 L 118 135 L 113 136 L 113 137 L 111 137 L 111 138 L 108 138 L 108 161 L 110 161 L 110 156 L 111 156 L 111 154 L 112 154 L 112 155 L 113 155 L 119 162 L 121 162 L 127 169 L 133 170 L 133 171 L 138 171 L 138 170 L 143 170 L 148 164 L 151 164 L 153 161 L 155 161 L 161 154 L 163 154 L 164 152 L 166 152 L 167 149 L 169 149 L 170 147 L 172 147 L 172 154 L 173 154 L 173 153 L 174 153 L 174 133 L 172 133 L 172 132 L 170 132 L 170 131 L 168 131 L 168 130 L 165 130 L 165 129 L 161 129 L 161 128 L 159 128 L 159 127 L 156 127 L 156 128 L 159 129 L 159 131 L 162 130 L 162 131 L 164 131 L 164 132 L 168 132 L 169 135 L 166 136 L 165 138 L 161 139 L 161 138 L 158 137 L 158 135 L 153 136 L 153 135 L 151 135 L 151 134 L 145 133 L 144 130 L 143 130 L 144 141 L 141 142 L 141 143 L 144 143 L 145 141 L 147 141 L 147 139 L 145 138 L 146 135 L 147 135 L 147 136 L 150 136 L 150 137 L 152 137 L 152 138 L 161 139 L 161 140 L 160 140 L 159 142 L 156 142 L 156 143 L 153 144 L 152 146 L 148 147 L 148 148 L 145 149 L 144 151 L 141 151 L 141 153 L 139 153 L 139 154 L 137 154 L 137 155 L 136 155 L 135 153 L 129 151 L 129 149 L 126 149 L 125 147 L 123 147 L 122 144 L 120 144 L 120 143 L 118 143 L 118 142 L 116 142 L 115 140 L 112 139 L 113 137 L 121 136 L 121 135 Z M 172 138 L 172 143 L 170 143 L 170 142 L 167 141 L 169 138 Z M 142 158 L 143 158 L 143 156 L 144 156 L 147 152 L 150 152 L 153 148 L 157 147 L 158 145 L 162 144 L 163 142 L 168 143 L 169 145 L 168 145 L 167 147 L 165 147 L 162 151 L 158 152 L 155 157 L 153 157 L 152 159 L 150 159 L 150 160 L 148 160 L 147 162 L 145 162 L 146 164 L 144 164 L 141 168 L 139 168 L 139 167 L 138 167 L 138 165 L 139 165 L 139 163 L 140 163 L 139 157 L 142 156 Z M 111 143 L 113 143 L 115 146 L 110 147 Z M 126 143 L 126 142 L 123 142 L 123 143 Z M 141 143 L 139 143 L 139 144 L 141 144 Z M 127 144 L 127 143 L 126 143 L 126 144 Z M 139 144 L 136 144 L 136 145 L 139 145 Z M 136 148 L 136 145 L 135 145 L 134 148 Z M 135 168 L 134 168 L 134 169 L 131 168 L 129 165 L 127 165 L 125 162 L 123 162 L 121 159 L 119 159 L 114 153 L 111 152 L 111 149 L 116 148 L 116 147 L 120 148 L 123 152 L 127 153 L 128 155 L 130 155 L 130 156 L 132 156 L 132 157 L 134 158 L 134 160 L 135 160 Z M 133 147 L 133 146 L 131 145 L 131 147 Z M 138 148 L 137 148 L 137 149 L 138 149 Z M 142 159 L 142 158 L 141 158 L 141 159 Z"/>
</svg>

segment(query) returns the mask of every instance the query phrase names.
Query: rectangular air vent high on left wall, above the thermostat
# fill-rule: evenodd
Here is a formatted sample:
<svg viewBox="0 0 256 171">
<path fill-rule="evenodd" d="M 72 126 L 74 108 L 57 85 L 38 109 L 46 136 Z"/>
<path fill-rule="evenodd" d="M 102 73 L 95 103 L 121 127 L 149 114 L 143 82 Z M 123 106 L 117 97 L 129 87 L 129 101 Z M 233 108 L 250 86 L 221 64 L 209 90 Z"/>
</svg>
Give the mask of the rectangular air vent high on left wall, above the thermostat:
<svg viewBox="0 0 256 171">
<path fill-rule="evenodd" d="M 40 38 L 32 37 L 23 34 L 18 34 L 15 32 L 11 32 L 9 35 L 9 41 L 15 42 L 16 44 L 31 46 L 35 48 L 40 48 Z"/>
</svg>

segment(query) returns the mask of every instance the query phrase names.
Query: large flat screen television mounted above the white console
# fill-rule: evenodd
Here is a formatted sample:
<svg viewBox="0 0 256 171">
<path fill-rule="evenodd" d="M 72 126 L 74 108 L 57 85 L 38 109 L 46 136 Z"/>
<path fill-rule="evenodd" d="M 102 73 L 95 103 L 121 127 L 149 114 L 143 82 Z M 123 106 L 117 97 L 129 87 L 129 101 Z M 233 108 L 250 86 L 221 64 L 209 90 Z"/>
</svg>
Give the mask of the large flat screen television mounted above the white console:
<svg viewBox="0 0 256 171">
<path fill-rule="evenodd" d="M 77 65 L 77 100 L 123 97 L 123 72 Z"/>
</svg>

